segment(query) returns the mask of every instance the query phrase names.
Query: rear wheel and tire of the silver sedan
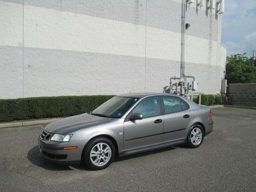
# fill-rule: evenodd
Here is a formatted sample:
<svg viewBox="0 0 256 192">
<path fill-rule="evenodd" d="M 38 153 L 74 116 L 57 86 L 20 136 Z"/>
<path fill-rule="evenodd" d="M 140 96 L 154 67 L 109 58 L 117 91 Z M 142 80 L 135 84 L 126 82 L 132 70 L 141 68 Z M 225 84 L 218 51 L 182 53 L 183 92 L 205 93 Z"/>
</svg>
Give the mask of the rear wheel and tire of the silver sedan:
<svg viewBox="0 0 256 192">
<path fill-rule="evenodd" d="M 190 148 L 199 147 L 204 140 L 204 130 L 200 124 L 191 126 L 187 135 L 187 146 Z"/>
</svg>

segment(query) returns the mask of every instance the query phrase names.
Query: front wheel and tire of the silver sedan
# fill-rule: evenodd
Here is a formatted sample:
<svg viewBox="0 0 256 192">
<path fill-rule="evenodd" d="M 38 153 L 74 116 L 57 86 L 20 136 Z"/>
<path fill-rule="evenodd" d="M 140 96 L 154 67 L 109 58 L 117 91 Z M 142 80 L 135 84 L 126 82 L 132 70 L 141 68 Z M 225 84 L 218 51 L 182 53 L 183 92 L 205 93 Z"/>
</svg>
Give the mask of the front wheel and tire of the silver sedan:
<svg viewBox="0 0 256 192">
<path fill-rule="evenodd" d="M 105 137 L 95 138 L 86 145 L 82 154 L 83 163 L 92 170 L 108 167 L 115 159 L 115 145 Z"/>
</svg>

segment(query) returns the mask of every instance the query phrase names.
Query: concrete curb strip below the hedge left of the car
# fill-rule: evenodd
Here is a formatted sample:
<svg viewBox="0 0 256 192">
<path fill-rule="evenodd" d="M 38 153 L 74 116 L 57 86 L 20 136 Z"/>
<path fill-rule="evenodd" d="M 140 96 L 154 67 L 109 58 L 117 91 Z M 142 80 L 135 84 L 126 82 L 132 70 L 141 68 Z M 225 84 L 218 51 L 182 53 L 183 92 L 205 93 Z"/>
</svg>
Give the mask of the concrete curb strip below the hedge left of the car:
<svg viewBox="0 0 256 192">
<path fill-rule="evenodd" d="M 29 126 L 29 125 L 37 125 L 37 124 L 48 124 L 53 121 L 59 120 L 61 118 L 52 118 L 52 119 L 39 119 L 33 121 L 19 121 L 19 122 L 10 122 L 10 123 L 0 123 L 1 128 L 8 128 L 8 127 L 17 127 L 17 126 Z"/>
</svg>

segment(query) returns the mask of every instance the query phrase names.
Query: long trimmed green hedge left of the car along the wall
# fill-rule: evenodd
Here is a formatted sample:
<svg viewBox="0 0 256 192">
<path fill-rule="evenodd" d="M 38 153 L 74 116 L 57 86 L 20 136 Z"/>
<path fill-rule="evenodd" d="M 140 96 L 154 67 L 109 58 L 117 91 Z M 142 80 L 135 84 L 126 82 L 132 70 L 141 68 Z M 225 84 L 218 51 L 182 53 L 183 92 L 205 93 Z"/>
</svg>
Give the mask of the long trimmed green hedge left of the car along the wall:
<svg viewBox="0 0 256 192">
<path fill-rule="evenodd" d="M 82 114 L 112 97 L 114 95 L 0 99 L 0 122 Z"/>
</svg>

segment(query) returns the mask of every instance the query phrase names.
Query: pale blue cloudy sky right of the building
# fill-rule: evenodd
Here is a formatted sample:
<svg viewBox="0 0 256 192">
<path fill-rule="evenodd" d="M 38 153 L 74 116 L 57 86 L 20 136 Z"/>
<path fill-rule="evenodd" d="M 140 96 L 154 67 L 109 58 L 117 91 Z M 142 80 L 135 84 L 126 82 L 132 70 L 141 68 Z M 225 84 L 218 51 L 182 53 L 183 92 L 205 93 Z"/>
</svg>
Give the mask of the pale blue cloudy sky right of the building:
<svg viewBox="0 0 256 192">
<path fill-rule="evenodd" d="M 256 0 L 225 1 L 222 42 L 227 56 L 256 50 Z"/>
</svg>

